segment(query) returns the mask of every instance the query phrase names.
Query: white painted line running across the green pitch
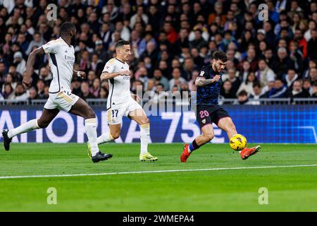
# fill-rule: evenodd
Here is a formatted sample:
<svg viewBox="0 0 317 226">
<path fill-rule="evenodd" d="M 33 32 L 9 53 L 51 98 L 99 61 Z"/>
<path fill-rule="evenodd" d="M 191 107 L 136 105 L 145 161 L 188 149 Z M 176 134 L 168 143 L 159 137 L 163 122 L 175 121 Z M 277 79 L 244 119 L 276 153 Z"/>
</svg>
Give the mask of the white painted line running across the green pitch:
<svg viewBox="0 0 317 226">
<path fill-rule="evenodd" d="M 213 171 L 213 170 L 230 170 L 230 169 L 272 169 L 272 168 L 287 168 L 287 167 L 317 167 L 313 165 L 272 165 L 263 167 L 230 167 L 230 168 L 207 168 L 207 169 L 167 169 L 154 171 L 131 171 L 131 172 L 104 172 L 99 174 L 59 174 L 59 175 L 25 175 L 25 176 L 5 176 L 0 179 L 22 179 L 22 178 L 41 178 L 41 177 L 87 177 L 87 176 L 104 176 L 117 174 L 150 174 L 160 172 L 195 172 L 195 171 Z"/>
</svg>

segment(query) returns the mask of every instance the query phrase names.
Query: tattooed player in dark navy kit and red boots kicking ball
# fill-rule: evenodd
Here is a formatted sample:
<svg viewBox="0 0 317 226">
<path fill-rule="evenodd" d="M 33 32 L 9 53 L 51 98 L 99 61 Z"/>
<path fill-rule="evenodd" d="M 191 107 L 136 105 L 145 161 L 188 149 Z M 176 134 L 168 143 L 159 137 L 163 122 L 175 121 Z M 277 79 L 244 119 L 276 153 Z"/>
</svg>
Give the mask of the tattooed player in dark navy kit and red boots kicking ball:
<svg viewBox="0 0 317 226">
<path fill-rule="evenodd" d="M 185 144 L 180 156 L 181 162 L 186 162 L 192 151 L 213 139 L 213 123 L 228 134 L 229 140 L 237 134 L 235 124 L 233 124 L 228 112 L 218 105 L 218 97 L 222 85 L 221 75 L 225 70 L 226 63 L 227 57 L 225 53 L 217 51 L 213 54 L 212 64 L 204 66 L 199 72 L 199 76 L 195 81 L 197 86 L 196 117 L 202 135 L 195 138 L 192 143 Z M 244 148 L 240 151 L 240 156 L 242 160 L 246 160 L 260 149 L 261 146 L 259 145 L 254 148 Z"/>
</svg>

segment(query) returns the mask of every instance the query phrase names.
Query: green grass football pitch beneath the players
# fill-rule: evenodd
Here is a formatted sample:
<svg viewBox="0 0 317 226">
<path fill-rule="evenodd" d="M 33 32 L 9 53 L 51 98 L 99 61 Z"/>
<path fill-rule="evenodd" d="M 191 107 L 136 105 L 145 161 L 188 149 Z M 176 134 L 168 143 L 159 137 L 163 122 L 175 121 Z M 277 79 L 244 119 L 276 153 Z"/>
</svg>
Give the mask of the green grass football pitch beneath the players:
<svg viewBox="0 0 317 226">
<path fill-rule="evenodd" d="M 181 163 L 180 143 L 150 144 L 157 162 L 140 162 L 138 143 L 108 143 L 113 157 L 94 164 L 85 144 L 1 144 L 0 211 L 317 211 L 317 145 L 261 146 L 241 160 L 208 144 Z"/>
</svg>

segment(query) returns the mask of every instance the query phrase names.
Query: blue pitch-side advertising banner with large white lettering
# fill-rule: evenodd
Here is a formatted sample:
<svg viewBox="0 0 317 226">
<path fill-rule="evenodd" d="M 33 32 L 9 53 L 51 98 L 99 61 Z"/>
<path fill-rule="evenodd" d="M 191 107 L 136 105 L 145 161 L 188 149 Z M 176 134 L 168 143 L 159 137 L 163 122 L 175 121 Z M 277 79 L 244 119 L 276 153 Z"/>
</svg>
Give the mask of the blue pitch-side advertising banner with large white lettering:
<svg viewBox="0 0 317 226">
<path fill-rule="evenodd" d="M 247 137 L 249 143 L 317 143 L 317 105 L 230 105 L 223 106 L 235 122 L 237 132 Z M 97 133 L 108 132 L 107 113 L 94 107 L 97 114 Z M 39 118 L 42 107 L 6 107 L 0 109 L 0 131 L 13 129 L 30 119 Z M 149 116 L 152 143 L 188 143 L 200 135 L 194 112 L 161 112 Z M 84 119 L 60 112 L 46 129 L 23 133 L 13 138 L 15 143 L 52 142 L 84 143 Z M 225 131 L 213 124 L 215 138 L 211 143 L 228 142 Z M 139 125 L 123 117 L 120 138 L 116 143 L 139 142 Z M 1 136 L 1 135 L 0 135 Z M 2 141 L 2 137 L 0 137 Z"/>
</svg>

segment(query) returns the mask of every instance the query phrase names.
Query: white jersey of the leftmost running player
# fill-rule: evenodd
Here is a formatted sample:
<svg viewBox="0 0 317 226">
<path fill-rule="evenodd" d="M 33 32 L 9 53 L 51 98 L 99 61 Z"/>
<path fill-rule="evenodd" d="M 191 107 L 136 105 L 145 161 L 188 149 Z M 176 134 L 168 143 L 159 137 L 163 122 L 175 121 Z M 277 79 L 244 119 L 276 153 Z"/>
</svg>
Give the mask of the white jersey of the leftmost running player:
<svg viewBox="0 0 317 226">
<path fill-rule="evenodd" d="M 75 49 L 68 45 L 61 37 L 42 45 L 45 54 L 49 54 L 49 67 L 53 74 L 53 81 L 49 85 L 49 93 L 60 93 L 70 90 L 75 63 Z"/>
</svg>

